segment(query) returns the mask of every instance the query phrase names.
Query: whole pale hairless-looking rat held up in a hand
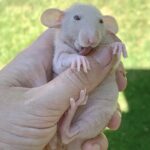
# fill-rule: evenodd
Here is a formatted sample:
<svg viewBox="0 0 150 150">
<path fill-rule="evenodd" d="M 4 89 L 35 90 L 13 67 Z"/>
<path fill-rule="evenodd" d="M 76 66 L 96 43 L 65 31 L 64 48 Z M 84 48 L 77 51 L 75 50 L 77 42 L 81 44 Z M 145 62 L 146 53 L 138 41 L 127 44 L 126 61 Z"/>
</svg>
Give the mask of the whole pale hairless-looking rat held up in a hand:
<svg viewBox="0 0 150 150">
<path fill-rule="evenodd" d="M 68 67 L 78 71 L 82 67 L 88 73 L 91 68 L 86 55 L 94 50 L 101 53 L 98 61 L 102 65 L 110 61 L 112 53 L 116 54 L 115 68 L 121 53 L 127 56 L 124 44 L 115 35 L 117 22 L 113 17 L 103 16 L 94 6 L 75 4 L 65 12 L 48 9 L 42 14 L 41 21 L 48 27 L 58 28 L 53 59 L 56 75 Z M 67 150 L 81 150 L 85 140 L 96 137 L 105 128 L 116 110 L 117 98 L 113 69 L 88 98 L 86 90 L 82 90 L 77 101 L 70 99 L 70 109 L 60 127 L 60 136 Z"/>
</svg>

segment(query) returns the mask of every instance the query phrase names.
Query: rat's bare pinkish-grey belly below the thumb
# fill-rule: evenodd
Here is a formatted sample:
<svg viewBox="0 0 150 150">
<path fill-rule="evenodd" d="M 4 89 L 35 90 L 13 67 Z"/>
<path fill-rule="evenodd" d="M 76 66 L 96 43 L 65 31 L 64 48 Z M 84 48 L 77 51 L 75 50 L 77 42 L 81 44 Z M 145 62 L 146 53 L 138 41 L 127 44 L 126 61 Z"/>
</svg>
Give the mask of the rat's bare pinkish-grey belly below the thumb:
<svg viewBox="0 0 150 150">
<path fill-rule="evenodd" d="M 116 110 L 117 98 L 118 87 L 113 73 L 92 91 L 87 104 L 76 112 L 72 125 L 80 129 L 79 139 L 93 138 L 106 127 Z"/>
</svg>

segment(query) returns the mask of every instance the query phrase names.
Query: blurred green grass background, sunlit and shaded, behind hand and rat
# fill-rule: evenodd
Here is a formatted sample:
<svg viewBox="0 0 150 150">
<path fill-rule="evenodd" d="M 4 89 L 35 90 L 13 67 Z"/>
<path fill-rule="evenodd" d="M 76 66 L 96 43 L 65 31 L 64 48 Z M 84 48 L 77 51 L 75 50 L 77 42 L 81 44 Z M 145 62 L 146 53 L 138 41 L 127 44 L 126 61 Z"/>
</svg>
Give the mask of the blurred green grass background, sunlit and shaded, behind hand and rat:
<svg viewBox="0 0 150 150">
<path fill-rule="evenodd" d="M 123 60 L 128 87 L 119 97 L 123 120 L 118 131 L 106 130 L 109 150 L 150 150 L 149 0 L 0 0 L 0 68 L 46 29 L 40 23 L 45 9 L 66 9 L 74 2 L 91 3 L 113 15 L 128 50 Z"/>
</svg>

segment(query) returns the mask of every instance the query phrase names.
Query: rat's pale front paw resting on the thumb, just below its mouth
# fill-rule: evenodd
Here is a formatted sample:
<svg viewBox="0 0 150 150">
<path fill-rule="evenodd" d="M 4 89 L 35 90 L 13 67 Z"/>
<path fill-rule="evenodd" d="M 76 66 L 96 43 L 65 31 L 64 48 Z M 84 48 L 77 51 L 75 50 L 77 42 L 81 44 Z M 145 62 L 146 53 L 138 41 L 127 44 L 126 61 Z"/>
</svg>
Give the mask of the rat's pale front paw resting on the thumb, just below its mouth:
<svg viewBox="0 0 150 150">
<path fill-rule="evenodd" d="M 85 56 L 77 55 L 73 58 L 71 63 L 71 69 L 77 69 L 77 71 L 81 70 L 81 66 L 83 67 L 83 71 L 85 73 L 90 70 L 90 63 Z"/>
</svg>

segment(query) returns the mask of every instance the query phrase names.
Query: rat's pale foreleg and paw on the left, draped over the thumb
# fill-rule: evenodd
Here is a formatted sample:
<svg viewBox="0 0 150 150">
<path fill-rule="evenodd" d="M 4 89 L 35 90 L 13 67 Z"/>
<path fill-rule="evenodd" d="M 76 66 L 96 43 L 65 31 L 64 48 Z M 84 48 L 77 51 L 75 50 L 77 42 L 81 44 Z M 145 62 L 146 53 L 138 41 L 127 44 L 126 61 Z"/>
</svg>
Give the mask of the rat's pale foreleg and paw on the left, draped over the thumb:
<svg viewBox="0 0 150 150">
<path fill-rule="evenodd" d="M 77 69 L 80 71 L 83 66 L 84 72 L 90 70 L 90 64 L 85 56 L 79 55 L 76 51 L 65 44 L 59 37 L 59 31 L 55 40 L 55 52 L 53 59 L 54 73 L 59 74 L 67 68 Z"/>
</svg>

